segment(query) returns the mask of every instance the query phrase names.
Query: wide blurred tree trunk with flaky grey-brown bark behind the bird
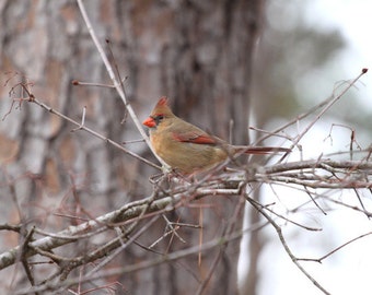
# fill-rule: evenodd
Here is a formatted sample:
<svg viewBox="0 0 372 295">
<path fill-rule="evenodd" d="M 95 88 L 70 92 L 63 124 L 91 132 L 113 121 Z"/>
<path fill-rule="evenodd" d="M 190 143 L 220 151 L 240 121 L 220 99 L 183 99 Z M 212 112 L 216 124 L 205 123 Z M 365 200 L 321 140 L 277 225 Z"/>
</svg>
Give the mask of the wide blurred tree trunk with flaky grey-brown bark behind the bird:
<svg viewBox="0 0 372 295">
<path fill-rule="evenodd" d="M 128 76 L 124 86 L 140 119 L 166 95 L 175 114 L 235 144 L 248 143 L 252 56 L 263 3 L 84 1 L 101 43 L 111 40 L 115 63 L 121 76 Z M 109 83 L 74 1 L 9 0 L 1 2 L 0 13 L 1 72 L 24 73 L 34 83 L 35 96 L 78 121 L 86 106 L 85 125 L 116 142 L 139 138 L 129 119 L 120 123 L 126 110 L 113 90 L 71 84 L 72 80 Z M 2 85 L 9 76 L 2 78 Z M 7 206 L 1 209 L 0 223 L 21 221 L 54 232 L 78 222 L 67 215 L 95 217 L 151 192 L 148 178 L 154 170 L 104 141 L 83 131 L 71 132 L 72 125 L 36 105 L 23 103 L 20 110 L 13 108 L 7 115 L 12 81 L 1 88 L 0 101 L 4 117 L 0 122 L 0 177 L 8 184 L 1 188 Z M 129 149 L 153 158 L 144 144 Z M 202 241 L 207 241 L 222 233 L 240 201 L 210 197 L 204 202 L 212 205 L 204 209 Z M 199 214 L 199 209 L 185 208 L 167 217 L 198 224 Z M 240 228 L 242 214 L 236 216 L 235 227 Z M 151 245 L 164 227 L 164 222 L 158 222 L 139 241 Z M 166 252 L 200 243 L 198 229 L 184 229 L 181 235 L 186 245 L 164 240 L 155 250 Z M 2 248 L 16 243 L 14 236 L 0 238 Z M 218 255 L 214 249 L 202 255 L 201 264 L 191 257 L 115 280 L 130 294 L 195 294 Z M 236 294 L 237 255 L 239 243 L 229 244 L 204 294 Z M 130 248 L 113 266 L 153 256 Z M 43 275 L 36 274 L 36 280 L 42 281 Z M 8 287 L 23 280 L 19 271 L 15 283 Z"/>
</svg>

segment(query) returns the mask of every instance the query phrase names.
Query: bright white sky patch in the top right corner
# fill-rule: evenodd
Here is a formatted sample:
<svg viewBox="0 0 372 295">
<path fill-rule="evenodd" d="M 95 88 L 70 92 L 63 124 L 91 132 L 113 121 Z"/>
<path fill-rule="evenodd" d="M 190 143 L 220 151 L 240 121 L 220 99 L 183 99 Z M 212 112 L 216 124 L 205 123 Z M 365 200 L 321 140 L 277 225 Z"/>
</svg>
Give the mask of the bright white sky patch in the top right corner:
<svg viewBox="0 0 372 295">
<path fill-rule="evenodd" d="M 338 27 L 347 42 L 345 50 L 333 66 L 350 73 L 345 79 L 357 76 L 362 68 L 369 73 L 362 78 L 364 85 L 358 86 L 358 99 L 372 111 L 372 1 L 369 0 L 313 0 L 305 5 L 306 22 L 330 30 Z"/>
</svg>

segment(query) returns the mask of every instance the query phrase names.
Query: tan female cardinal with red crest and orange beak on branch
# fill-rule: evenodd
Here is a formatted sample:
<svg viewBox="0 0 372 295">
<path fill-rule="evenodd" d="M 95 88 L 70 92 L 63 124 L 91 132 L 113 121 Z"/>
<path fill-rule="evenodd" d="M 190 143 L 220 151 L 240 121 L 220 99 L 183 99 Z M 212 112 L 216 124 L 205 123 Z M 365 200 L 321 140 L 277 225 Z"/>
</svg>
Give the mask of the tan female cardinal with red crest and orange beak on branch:
<svg viewBox="0 0 372 295">
<path fill-rule="evenodd" d="M 156 155 L 182 174 L 210 169 L 240 153 L 290 152 L 284 148 L 231 145 L 176 117 L 164 96 L 143 125 L 150 128 L 150 142 Z"/>
</svg>

